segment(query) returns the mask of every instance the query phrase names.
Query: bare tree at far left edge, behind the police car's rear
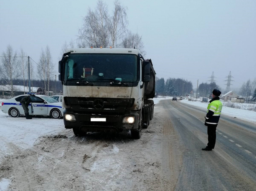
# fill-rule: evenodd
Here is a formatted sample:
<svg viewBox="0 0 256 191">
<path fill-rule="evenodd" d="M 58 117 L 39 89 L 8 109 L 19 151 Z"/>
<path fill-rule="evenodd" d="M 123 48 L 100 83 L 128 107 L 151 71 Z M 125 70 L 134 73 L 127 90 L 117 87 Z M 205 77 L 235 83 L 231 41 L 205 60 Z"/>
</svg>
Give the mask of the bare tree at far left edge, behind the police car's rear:
<svg viewBox="0 0 256 191">
<path fill-rule="evenodd" d="M 1 57 L 1 77 L 7 81 L 7 84 L 10 85 L 10 96 L 14 96 L 13 92 L 13 80 L 20 76 L 17 62 L 17 52 L 13 51 L 11 45 L 7 46 L 6 52 L 2 53 Z"/>
</svg>

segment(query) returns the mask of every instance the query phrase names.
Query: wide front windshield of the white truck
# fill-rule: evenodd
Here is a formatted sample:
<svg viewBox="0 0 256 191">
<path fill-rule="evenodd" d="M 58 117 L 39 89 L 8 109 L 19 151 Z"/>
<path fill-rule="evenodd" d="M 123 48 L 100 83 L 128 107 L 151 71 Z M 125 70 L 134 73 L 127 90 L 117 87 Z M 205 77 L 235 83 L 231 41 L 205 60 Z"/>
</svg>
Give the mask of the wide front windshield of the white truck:
<svg viewBox="0 0 256 191">
<path fill-rule="evenodd" d="M 136 82 L 137 55 L 134 54 L 69 54 L 65 63 L 66 81 L 99 82 L 119 80 Z"/>
</svg>

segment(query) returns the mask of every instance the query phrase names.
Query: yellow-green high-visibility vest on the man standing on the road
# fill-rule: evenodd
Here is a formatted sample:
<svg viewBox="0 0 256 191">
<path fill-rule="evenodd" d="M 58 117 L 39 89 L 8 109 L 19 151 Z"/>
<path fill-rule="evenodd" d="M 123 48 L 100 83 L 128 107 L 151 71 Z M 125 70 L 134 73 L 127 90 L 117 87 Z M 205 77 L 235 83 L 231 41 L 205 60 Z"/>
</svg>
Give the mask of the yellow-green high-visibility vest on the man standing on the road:
<svg viewBox="0 0 256 191">
<path fill-rule="evenodd" d="M 214 100 L 212 101 L 208 107 L 208 112 L 209 111 L 212 111 L 213 112 L 213 115 L 212 116 L 208 116 L 206 115 L 205 119 L 205 123 L 206 124 L 215 124 L 217 125 L 218 122 L 219 122 L 219 119 L 220 119 L 220 114 L 221 114 L 221 110 L 222 110 L 222 103 L 220 100 Z M 207 113 L 208 114 L 208 113 Z"/>
</svg>

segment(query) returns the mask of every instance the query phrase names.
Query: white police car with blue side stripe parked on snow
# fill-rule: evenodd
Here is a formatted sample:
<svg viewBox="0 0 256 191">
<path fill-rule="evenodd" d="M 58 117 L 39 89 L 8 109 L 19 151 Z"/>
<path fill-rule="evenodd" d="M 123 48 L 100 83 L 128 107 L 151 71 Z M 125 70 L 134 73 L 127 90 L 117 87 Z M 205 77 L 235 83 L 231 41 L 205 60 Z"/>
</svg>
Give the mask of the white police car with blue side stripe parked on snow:
<svg viewBox="0 0 256 191">
<path fill-rule="evenodd" d="M 20 100 L 29 95 L 19 95 L 11 99 L 3 100 L 1 110 L 3 113 L 8 113 L 11 117 L 17 118 L 20 115 L 25 115 L 24 109 L 20 103 Z M 63 116 L 61 103 L 55 99 L 45 95 L 33 95 L 30 96 L 32 103 L 28 106 L 30 115 L 46 115 L 53 119 L 59 119 Z M 33 104 L 33 113 L 32 107 Z"/>
</svg>

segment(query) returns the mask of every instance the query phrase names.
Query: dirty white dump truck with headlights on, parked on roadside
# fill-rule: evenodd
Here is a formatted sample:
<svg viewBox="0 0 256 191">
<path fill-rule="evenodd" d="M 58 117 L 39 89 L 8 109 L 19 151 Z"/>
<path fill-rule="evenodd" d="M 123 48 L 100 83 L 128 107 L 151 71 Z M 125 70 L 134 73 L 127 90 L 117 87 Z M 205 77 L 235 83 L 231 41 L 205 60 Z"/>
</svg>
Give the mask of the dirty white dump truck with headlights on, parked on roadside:
<svg viewBox="0 0 256 191">
<path fill-rule="evenodd" d="M 153 118 L 155 71 L 137 49 L 69 49 L 59 61 L 64 125 L 76 136 L 130 131 L 139 139 Z"/>
</svg>

